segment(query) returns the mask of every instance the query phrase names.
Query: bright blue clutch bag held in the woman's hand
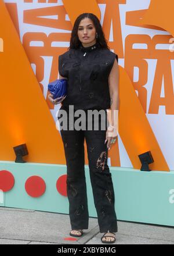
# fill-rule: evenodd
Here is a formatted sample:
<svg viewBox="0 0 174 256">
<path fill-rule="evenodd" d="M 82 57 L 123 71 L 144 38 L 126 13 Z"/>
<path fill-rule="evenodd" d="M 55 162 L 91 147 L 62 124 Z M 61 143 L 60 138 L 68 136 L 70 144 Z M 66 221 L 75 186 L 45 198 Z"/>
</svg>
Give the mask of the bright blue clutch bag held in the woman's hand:
<svg viewBox="0 0 174 256">
<path fill-rule="evenodd" d="M 53 99 L 65 96 L 67 94 L 67 79 L 57 79 L 49 83 L 48 90 L 53 94 Z"/>
</svg>

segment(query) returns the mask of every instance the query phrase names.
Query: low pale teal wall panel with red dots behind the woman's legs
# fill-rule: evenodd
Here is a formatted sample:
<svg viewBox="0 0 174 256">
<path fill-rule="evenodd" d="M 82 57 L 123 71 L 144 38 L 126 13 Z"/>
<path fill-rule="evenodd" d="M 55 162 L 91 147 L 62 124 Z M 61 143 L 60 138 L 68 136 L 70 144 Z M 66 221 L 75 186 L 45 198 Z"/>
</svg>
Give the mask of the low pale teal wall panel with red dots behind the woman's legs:
<svg viewBox="0 0 174 256">
<path fill-rule="evenodd" d="M 0 161 L 1 170 L 13 174 L 14 187 L 4 193 L 5 202 L 0 206 L 68 214 L 68 198 L 56 189 L 57 179 L 66 174 L 66 165 Z M 110 172 L 119 220 L 174 226 L 174 171 L 142 172 L 110 167 Z M 31 197 L 25 190 L 26 180 L 33 175 L 41 176 L 46 183 L 45 193 L 38 198 Z M 89 216 L 97 217 L 88 165 L 85 165 L 85 175 Z"/>
</svg>

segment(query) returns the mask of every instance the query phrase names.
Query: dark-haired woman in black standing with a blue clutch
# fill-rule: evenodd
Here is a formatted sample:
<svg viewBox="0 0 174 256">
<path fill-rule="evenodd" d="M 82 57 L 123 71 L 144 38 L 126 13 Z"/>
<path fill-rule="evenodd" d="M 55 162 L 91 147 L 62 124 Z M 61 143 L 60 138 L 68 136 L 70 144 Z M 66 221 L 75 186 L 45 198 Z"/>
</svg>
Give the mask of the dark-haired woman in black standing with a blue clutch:
<svg viewBox="0 0 174 256">
<path fill-rule="evenodd" d="M 53 99 L 53 104 L 62 102 L 59 110 L 67 112 L 82 109 L 103 110 L 106 118 L 99 118 L 99 125 L 109 121 L 105 130 L 61 129 L 67 163 L 67 195 L 70 205 L 71 236 L 80 237 L 88 229 L 88 200 L 84 170 L 84 139 L 89 160 L 90 181 L 97 211 L 102 243 L 114 243 L 117 232 L 117 216 L 114 209 L 114 189 L 107 165 L 107 154 L 118 134 L 118 56 L 107 46 L 102 26 L 93 13 L 77 17 L 71 33 L 70 47 L 59 56 L 60 79 L 68 79 L 67 96 Z M 74 113 L 74 112 L 73 112 Z M 115 120 L 116 116 L 116 121 Z M 77 118 L 75 118 L 77 120 Z M 86 125 L 88 125 L 88 119 Z M 90 121 L 94 125 L 95 120 Z M 107 143 L 106 143 L 107 142 Z"/>
</svg>

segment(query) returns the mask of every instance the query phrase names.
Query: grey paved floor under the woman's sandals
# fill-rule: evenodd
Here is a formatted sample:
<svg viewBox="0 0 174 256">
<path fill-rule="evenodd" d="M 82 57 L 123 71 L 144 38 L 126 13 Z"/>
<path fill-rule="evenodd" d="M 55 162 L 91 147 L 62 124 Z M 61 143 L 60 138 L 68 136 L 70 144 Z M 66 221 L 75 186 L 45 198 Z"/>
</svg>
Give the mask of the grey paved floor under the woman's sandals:
<svg viewBox="0 0 174 256">
<path fill-rule="evenodd" d="M 103 244 L 97 218 L 75 241 L 66 214 L 0 207 L 0 244 Z M 114 244 L 174 244 L 173 227 L 118 221 Z"/>
</svg>

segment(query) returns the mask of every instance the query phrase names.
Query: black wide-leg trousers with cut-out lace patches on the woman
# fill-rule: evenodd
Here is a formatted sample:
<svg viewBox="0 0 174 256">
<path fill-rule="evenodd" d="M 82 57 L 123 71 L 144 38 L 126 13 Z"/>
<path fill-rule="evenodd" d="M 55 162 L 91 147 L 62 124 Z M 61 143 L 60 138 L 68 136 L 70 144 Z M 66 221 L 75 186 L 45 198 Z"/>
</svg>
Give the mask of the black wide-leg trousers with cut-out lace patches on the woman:
<svg viewBox="0 0 174 256">
<path fill-rule="evenodd" d="M 76 119 L 74 118 L 74 122 Z M 60 120 L 60 116 L 58 116 L 58 120 Z M 86 118 L 86 125 L 87 122 L 88 119 Z M 101 118 L 99 118 L 99 130 L 94 130 L 94 127 L 92 127 L 92 130 L 88 130 L 87 126 L 86 130 L 70 130 L 69 123 L 67 130 L 60 130 L 67 164 L 67 197 L 70 223 L 72 229 L 88 229 L 89 212 L 84 168 L 85 140 L 88 151 L 90 182 L 100 232 L 108 232 L 108 230 L 117 232 L 114 187 L 110 169 L 107 165 L 107 142 L 104 144 L 106 130 L 100 128 L 100 122 Z"/>
</svg>

